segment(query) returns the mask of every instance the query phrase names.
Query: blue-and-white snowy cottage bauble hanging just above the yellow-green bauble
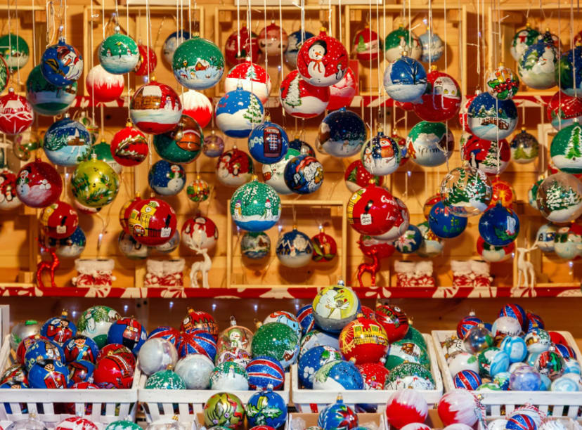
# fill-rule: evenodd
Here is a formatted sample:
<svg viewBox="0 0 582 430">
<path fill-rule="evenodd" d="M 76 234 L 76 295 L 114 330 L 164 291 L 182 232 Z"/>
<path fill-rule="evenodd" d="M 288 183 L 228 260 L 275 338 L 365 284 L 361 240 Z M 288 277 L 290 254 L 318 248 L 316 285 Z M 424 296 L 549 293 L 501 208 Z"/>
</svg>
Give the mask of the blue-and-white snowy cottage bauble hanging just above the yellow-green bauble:
<svg viewBox="0 0 582 430">
<path fill-rule="evenodd" d="M 91 152 L 91 136 L 83 124 L 65 114 L 46 130 L 43 149 L 54 164 L 74 167 L 86 160 Z"/>
</svg>

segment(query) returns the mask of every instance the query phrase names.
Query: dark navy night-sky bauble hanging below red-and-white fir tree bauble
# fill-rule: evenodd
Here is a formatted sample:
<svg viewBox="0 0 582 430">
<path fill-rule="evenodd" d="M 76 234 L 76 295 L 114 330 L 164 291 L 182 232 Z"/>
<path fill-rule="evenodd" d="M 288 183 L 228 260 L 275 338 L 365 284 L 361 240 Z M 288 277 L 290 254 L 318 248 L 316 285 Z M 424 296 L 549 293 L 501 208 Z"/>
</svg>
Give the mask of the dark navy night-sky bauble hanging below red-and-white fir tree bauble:
<svg viewBox="0 0 582 430">
<path fill-rule="evenodd" d="M 363 119 L 342 107 L 323 118 L 319 124 L 317 141 L 332 157 L 345 158 L 360 152 L 366 136 Z"/>
</svg>

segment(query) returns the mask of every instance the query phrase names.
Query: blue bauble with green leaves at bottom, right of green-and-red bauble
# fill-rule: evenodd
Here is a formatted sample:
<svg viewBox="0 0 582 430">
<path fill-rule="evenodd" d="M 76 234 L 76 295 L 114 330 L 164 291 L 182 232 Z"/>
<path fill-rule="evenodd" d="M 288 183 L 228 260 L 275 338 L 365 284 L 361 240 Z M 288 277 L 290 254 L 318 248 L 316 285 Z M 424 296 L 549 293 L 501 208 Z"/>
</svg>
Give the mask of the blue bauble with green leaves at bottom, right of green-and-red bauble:
<svg viewBox="0 0 582 430">
<path fill-rule="evenodd" d="M 272 389 L 258 391 L 250 396 L 245 406 L 249 427 L 271 426 L 276 429 L 287 422 L 285 400 Z"/>
</svg>

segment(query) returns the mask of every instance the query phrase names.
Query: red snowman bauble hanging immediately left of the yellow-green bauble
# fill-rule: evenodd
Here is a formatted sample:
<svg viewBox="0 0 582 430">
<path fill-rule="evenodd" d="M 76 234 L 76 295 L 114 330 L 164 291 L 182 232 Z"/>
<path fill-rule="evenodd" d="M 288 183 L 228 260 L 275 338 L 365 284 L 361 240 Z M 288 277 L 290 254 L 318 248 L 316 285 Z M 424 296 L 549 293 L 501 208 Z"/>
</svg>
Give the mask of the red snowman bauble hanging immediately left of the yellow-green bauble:
<svg viewBox="0 0 582 430">
<path fill-rule="evenodd" d="M 20 201 L 30 207 L 45 207 L 53 204 L 63 191 L 63 180 L 51 164 L 40 158 L 25 164 L 18 171 L 16 194 Z"/>
</svg>

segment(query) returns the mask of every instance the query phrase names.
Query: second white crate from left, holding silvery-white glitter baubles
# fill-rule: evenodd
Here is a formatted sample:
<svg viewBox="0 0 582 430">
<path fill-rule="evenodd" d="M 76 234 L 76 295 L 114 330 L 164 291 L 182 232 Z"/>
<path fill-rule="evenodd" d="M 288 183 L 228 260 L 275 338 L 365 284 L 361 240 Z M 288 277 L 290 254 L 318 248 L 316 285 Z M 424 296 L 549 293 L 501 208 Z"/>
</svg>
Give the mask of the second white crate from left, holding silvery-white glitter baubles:
<svg viewBox="0 0 582 430">
<path fill-rule="evenodd" d="M 151 390 L 145 389 L 145 382 L 148 377 L 145 374 L 141 375 L 138 389 L 138 400 L 141 403 L 145 419 L 148 422 L 156 422 L 158 419 L 169 419 L 174 415 L 178 417 L 181 423 L 196 422 L 196 414 L 202 412 L 202 408 L 208 398 L 216 393 L 222 393 L 224 390 Z M 290 374 L 285 373 L 285 383 L 282 390 L 275 391 L 280 394 L 285 401 L 285 405 L 289 404 L 289 392 L 291 388 Z M 232 393 L 246 404 L 250 396 L 256 391 L 237 391 L 230 390 Z M 176 410 L 174 410 L 176 405 Z"/>
</svg>

